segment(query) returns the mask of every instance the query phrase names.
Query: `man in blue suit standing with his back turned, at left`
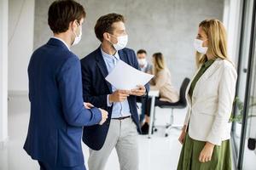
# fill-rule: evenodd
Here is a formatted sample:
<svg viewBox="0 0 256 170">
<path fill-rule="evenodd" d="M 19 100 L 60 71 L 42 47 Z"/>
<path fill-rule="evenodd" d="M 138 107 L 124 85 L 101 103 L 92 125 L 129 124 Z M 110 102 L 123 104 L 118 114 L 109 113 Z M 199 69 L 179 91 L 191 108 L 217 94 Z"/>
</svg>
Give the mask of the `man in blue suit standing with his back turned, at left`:
<svg viewBox="0 0 256 170">
<path fill-rule="evenodd" d="M 54 37 L 28 66 L 31 116 L 24 149 L 40 169 L 85 170 L 83 126 L 108 118 L 107 111 L 84 103 L 80 61 L 70 51 L 81 39 L 84 18 L 83 6 L 73 0 L 52 3 L 48 23 Z"/>
</svg>

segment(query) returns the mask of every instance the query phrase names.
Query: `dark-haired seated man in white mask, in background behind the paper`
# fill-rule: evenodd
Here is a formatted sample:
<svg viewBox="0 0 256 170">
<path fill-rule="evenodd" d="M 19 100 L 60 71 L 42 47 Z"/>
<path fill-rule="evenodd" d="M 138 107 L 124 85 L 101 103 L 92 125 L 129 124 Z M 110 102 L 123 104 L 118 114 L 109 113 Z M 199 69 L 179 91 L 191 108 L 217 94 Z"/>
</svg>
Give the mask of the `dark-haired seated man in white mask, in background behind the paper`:
<svg viewBox="0 0 256 170">
<path fill-rule="evenodd" d="M 152 74 L 152 65 L 150 65 L 147 61 L 147 52 L 144 49 L 139 49 L 137 51 L 137 62 L 140 65 L 141 71 Z M 137 97 L 137 102 L 142 103 L 142 113 L 140 115 L 140 123 L 143 123 L 145 117 L 145 109 L 146 109 L 146 98 Z"/>
</svg>

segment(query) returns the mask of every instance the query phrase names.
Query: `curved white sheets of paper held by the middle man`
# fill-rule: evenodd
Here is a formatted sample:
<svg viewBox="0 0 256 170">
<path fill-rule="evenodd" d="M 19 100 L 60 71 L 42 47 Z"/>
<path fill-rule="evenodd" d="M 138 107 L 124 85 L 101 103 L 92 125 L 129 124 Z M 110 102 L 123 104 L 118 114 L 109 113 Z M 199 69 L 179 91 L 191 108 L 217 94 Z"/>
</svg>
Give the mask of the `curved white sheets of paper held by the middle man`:
<svg viewBox="0 0 256 170">
<path fill-rule="evenodd" d="M 114 88 L 131 90 L 137 88 L 137 85 L 145 85 L 153 77 L 153 75 L 138 71 L 131 65 L 127 65 L 124 61 L 119 60 L 113 71 L 106 77 L 106 80 L 110 82 Z"/>
</svg>

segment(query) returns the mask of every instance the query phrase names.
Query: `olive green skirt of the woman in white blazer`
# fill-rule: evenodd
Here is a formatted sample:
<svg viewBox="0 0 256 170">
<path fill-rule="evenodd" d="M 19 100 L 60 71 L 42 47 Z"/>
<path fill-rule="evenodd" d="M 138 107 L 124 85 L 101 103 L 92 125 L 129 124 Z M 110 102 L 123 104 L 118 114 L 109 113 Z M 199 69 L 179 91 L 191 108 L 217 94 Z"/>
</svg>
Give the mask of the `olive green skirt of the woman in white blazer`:
<svg viewBox="0 0 256 170">
<path fill-rule="evenodd" d="M 199 155 L 206 142 L 191 139 L 187 133 L 179 157 L 177 170 L 231 170 L 230 140 L 225 140 L 220 146 L 215 145 L 212 160 L 205 163 L 199 161 Z"/>
</svg>

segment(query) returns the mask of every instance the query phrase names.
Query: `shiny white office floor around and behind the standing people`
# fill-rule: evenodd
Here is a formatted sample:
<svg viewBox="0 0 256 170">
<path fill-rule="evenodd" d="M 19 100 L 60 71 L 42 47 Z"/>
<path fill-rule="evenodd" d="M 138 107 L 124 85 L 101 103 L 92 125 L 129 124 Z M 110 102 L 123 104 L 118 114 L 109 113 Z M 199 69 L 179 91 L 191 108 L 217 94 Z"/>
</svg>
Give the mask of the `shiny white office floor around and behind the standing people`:
<svg viewBox="0 0 256 170">
<path fill-rule="evenodd" d="M 174 170 L 181 150 L 177 138 L 180 130 L 172 129 L 168 138 L 164 137 L 164 126 L 169 120 L 170 110 L 156 108 L 156 126 L 159 127 L 151 139 L 139 137 L 140 170 Z M 174 124 L 182 124 L 185 110 L 174 112 Z M 39 169 L 37 161 L 33 161 L 22 149 L 26 139 L 29 121 L 29 105 L 24 97 L 9 98 L 9 141 L 0 148 L 0 170 L 34 170 Z M 88 147 L 84 145 L 84 160 L 89 156 Z M 86 165 L 87 167 L 87 165 Z M 113 150 L 106 170 L 118 170 L 118 157 Z"/>
</svg>

